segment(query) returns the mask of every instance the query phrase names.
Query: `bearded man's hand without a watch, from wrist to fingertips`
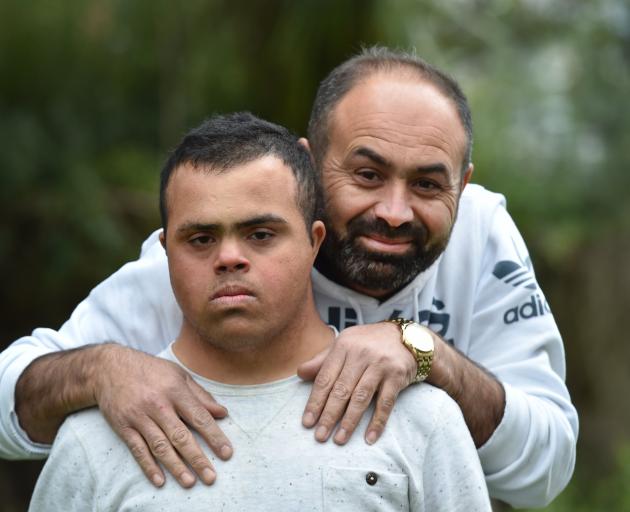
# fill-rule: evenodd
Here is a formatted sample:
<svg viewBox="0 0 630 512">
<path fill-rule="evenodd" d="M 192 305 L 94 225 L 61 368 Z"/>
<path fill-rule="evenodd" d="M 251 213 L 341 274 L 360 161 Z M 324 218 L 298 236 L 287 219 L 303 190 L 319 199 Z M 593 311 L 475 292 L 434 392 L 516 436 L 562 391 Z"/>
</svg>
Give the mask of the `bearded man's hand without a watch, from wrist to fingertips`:
<svg viewBox="0 0 630 512">
<path fill-rule="evenodd" d="M 217 456 L 228 459 L 232 446 L 214 421 L 227 410 L 170 361 L 113 344 L 103 350 L 96 401 L 147 478 L 158 487 L 164 484 L 157 459 L 182 487 L 195 484 L 189 467 L 212 484 L 214 468 L 189 427 Z"/>
</svg>

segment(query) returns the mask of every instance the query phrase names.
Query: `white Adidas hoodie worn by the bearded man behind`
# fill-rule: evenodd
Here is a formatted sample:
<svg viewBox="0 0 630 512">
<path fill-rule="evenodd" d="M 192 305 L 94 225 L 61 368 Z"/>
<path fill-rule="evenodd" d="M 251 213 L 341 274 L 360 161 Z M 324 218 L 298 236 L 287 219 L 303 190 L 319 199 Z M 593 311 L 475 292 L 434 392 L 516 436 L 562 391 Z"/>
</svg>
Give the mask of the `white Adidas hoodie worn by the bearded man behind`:
<svg viewBox="0 0 630 512">
<path fill-rule="evenodd" d="M 28 440 L 14 410 L 15 384 L 33 359 L 110 340 L 157 354 L 177 336 L 181 311 L 158 234 L 145 241 L 140 259 L 94 288 L 59 331 L 36 329 L 0 354 L 0 456 L 48 453 Z M 504 417 L 478 450 L 492 497 L 540 507 L 566 486 L 578 419 L 564 382 L 564 348 L 503 196 L 467 185 L 444 254 L 383 303 L 315 270 L 313 289 L 331 325 L 414 318 L 503 383 Z"/>
</svg>

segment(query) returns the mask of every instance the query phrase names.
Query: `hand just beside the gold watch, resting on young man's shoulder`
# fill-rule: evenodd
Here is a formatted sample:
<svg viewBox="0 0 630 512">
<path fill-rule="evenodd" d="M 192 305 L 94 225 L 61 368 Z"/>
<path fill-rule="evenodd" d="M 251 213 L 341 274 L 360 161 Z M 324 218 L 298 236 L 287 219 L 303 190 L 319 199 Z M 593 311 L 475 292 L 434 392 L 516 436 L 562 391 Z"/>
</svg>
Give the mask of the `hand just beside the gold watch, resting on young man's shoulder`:
<svg viewBox="0 0 630 512">
<path fill-rule="evenodd" d="M 373 444 L 383 433 L 398 393 L 413 381 L 416 371 L 416 361 L 394 324 L 349 327 L 330 349 L 298 368 L 302 379 L 315 379 L 302 424 L 308 428 L 317 424 L 315 439 L 324 442 L 341 420 L 333 439 L 344 444 L 377 394 L 365 434 Z"/>
</svg>

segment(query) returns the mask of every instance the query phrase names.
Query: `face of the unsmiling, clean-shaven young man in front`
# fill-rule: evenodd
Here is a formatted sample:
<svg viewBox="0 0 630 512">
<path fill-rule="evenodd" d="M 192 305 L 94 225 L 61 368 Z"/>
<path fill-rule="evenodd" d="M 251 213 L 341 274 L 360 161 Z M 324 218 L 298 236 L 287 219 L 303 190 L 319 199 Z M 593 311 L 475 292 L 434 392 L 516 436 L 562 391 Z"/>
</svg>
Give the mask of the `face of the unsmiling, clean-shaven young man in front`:
<svg viewBox="0 0 630 512">
<path fill-rule="evenodd" d="M 222 173 L 184 165 L 166 194 L 166 251 L 185 329 L 238 351 L 299 321 L 324 228 L 309 227 L 311 243 L 281 160 L 266 156 Z"/>
</svg>

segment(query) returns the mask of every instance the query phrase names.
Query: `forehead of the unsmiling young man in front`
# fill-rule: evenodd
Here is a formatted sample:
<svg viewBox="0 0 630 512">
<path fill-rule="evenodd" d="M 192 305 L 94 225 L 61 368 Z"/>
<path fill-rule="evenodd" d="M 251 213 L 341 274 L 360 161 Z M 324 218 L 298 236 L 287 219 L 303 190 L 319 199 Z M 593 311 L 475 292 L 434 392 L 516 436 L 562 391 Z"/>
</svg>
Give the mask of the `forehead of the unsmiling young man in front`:
<svg viewBox="0 0 630 512">
<path fill-rule="evenodd" d="M 301 218 L 293 172 L 272 155 L 225 171 L 184 164 L 171 176 L 166 199 L 170 225 L 191 218 L 238 222 L 261 213 Z"/>
</svg>

